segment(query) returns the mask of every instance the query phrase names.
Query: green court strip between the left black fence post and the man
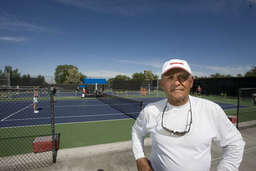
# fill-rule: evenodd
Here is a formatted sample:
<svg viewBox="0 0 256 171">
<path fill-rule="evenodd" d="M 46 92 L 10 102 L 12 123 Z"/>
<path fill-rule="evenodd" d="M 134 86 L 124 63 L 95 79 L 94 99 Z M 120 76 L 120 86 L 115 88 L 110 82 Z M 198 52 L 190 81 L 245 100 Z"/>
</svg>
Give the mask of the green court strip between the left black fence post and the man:
<svg viewBox="0 0 256 171">
<path fill-rule="evenodd" d="M 59 147 L 73 148 L 131 140 L 135 119 L 55 125 Z"/>
</svg>

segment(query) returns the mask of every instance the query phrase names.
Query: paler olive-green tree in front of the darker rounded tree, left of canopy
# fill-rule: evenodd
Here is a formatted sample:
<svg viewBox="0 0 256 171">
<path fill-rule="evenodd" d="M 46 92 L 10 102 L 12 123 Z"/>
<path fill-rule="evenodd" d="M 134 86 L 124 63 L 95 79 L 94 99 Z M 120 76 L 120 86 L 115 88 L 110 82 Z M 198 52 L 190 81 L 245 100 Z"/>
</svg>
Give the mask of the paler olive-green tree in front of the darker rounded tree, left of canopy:
<svg viewBox="0 0 256 171">
<path fill-rule="evenodd" d="M 66 80 L 64 83 L 66 84 L 81 84 L 80 80 L 81 73 L 78 72 L 77 68 L 71 68 L 68 70 L 68 75 L 66 75 Z"/>
</svg>

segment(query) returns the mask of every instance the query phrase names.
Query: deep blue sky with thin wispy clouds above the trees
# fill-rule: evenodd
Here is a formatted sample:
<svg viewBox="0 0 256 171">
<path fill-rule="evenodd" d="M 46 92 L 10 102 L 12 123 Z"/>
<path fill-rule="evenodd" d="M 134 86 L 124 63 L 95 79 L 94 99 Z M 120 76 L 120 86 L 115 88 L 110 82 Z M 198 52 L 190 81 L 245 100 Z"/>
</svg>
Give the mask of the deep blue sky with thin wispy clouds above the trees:
<svg viewBox="0 0 256 171">
<path fill-rule="evenodd" d="M 0 1 L 0 69 L 54 76 L 160 76 L 169 59 L 194 75 L 237 76 L 256 66 L 256 0 Z"/>
</svg>

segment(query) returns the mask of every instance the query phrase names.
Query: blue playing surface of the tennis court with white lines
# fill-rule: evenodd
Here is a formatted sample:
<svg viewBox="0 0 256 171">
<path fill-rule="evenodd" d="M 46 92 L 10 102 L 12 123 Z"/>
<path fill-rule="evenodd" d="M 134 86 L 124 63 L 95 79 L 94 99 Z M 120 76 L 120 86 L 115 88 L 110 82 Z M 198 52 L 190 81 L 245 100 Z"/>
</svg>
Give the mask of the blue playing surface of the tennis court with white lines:
<svg viewBox="0 0 256 171">
<path fill-rule="evenodd" d="M 166 97 L 136 99 L 143 101 L 144 108 L 148 103 L 159 101 L 163 98 Z M 46 103 L 42 103 L 40 100 L 38 101 L 37 109 L 39 113 L 33 113 L 33 101 L 10 101 L 1 103 L 5 103 L 1 105 L 2 108 L 3 106 L 5 106 L 5 108 L 0 109 L 0 123 L 5 122 L 5 124 L 0 124 L 0 127 L 3 127 L 2 125 L 8 125 L 8 127 L 37 125 L 38 120 L 40 120 L 41 124 L 44 124 L 41 122 L 42 120 L 51 118 L 50 101 L 48 106 L 42 106 L 42 104 Z M 19 109 L 15 107 L 16 103 L 19 103 Z M 237 109 L 237 105 L 235 104 L 217 104 L 219 104 L 223 110 Z M 249 106 L 241 107 L 249 108 Z M 55 124 L 131 119 L 130 116 L 123 114 L 98 99 L 58 100 L 54 103 L 54 113 Z M 23 120 L 23 122 L 20 122 L 20 120 Z M 8 124 L 6 124 L 6 122 L 8 122 Z"/>
</svg>

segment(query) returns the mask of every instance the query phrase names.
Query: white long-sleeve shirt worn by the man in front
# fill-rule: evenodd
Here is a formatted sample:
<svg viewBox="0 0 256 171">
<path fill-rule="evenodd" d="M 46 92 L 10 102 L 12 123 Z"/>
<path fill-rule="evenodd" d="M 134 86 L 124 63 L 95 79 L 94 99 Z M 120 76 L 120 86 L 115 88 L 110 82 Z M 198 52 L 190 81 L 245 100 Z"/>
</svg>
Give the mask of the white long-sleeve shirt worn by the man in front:
<svg viewBox="0 0 256 171">
<path fill-rule="evenodd" d="M 152 139 L 151 164 L 155 171 L 209 170 L 210 146 L 214 140 L 222 147 L 218 170 L 238 170 L 245 142 L 224 111 L 214 102 L 189 96 L 193 122 L 190 131 L 175 135 L 162 128 L 162 113 L 167 99 L 148 104 L 140 113 L 132 129 L 135 159 L 144 156 L 144 137 Z M 173 131 L 187 131 L 190 105 L 173 106 L 167 103 L 163 124 Z"/>
</svg>

